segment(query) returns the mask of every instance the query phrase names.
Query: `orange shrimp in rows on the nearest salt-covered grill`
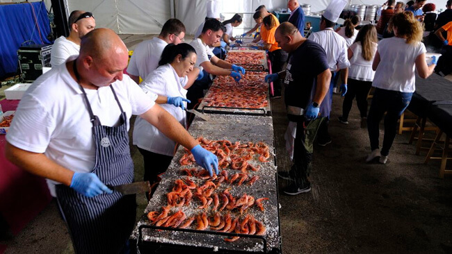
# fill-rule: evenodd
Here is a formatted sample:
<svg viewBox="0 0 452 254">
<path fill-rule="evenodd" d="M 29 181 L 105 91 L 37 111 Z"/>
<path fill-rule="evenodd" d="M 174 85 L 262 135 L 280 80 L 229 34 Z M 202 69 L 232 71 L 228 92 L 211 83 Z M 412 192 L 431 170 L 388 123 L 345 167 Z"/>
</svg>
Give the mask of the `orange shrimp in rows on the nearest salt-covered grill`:
<svg viewBox="0 0 452 254">
<path fill-rule="evenodd" d="M 147 218 L 156 226 L 264 235 L 264 223 L 255 219 L 253 214 L 265 211 L 264 201 L 268 201 L 268 198 L 256 198 L 240 192 L 241 189 L 235 193 L 242 194 L 234 196 L 231 191 L 248 187 L 259 180 L 257 175 L 248 175 L 259 170 L 250 162 L 253 159 L 268 162 L 268 146 L 263 142 L 240 144 L 203 137 L 197 140 L 205 149 L 218 155 L 223 170 L 218 176 L 215 173 L 209 176 L 209 172 L 204 169 L 185 167 L 195 163 L 193 155 L 186 151 L 179 161 L 184 167 L 181 174 L 185 176 L 177 178 L 166 194 L 166 206 L 160 212 L 149 212 Z M 239 237 L 225 238 L 225 242 L 237 239 Z"/>
</svg>

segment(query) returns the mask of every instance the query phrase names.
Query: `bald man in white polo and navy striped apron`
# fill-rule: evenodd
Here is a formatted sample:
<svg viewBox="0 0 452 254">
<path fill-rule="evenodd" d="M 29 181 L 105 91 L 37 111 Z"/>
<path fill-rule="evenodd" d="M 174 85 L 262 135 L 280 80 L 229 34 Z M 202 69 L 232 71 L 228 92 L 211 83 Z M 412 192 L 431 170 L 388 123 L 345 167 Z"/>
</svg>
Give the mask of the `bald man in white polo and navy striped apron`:
<svg viewBox="0 0 452 254">
<path fill-rule="evenodd" d="M 6 137 L 8 160 L 49 180 L 76 253 L 127 251 L 135 196 L 106 185 L 134 180 L 127 133 L 131 115 L 140 115 L 218 173 L 216 156 L 122 75 L 127 60 L 127 48 L 113 31 L 88 33 L 79 56 L 31 85 Z"/>
</svg>

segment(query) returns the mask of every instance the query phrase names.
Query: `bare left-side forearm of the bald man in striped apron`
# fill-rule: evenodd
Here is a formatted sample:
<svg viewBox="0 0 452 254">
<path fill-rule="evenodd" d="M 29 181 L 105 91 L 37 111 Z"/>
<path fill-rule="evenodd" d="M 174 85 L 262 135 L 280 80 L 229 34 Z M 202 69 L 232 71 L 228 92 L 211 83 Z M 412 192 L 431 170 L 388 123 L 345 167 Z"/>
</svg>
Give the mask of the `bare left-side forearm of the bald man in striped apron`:
<svg viewBox="0 0 452 254">
<path fill-rule="evenodd" d="M 21 169 L 67 186 L 71 185 L 74 172 L 50 160 L 44 153 L 25 151 L 6 142 L 5 155 L 10 162 Z"/>
</svg>

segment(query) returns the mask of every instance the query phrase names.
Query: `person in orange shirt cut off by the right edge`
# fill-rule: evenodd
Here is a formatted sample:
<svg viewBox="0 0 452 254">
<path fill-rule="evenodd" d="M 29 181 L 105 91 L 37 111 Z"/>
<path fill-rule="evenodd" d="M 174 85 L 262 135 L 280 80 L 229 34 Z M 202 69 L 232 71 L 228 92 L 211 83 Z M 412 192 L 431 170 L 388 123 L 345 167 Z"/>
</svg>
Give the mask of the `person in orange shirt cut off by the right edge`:
<svg viewBox="0 0 452 254">
<path fill-rule="evenodd" d="M 447 32 L 447 39 L 444 39 L 442 32 Z M 446 76 L 452 72 L 452 22 L 445 24 L 440 27 L 435 35 L 442 41 L 444 46 L 442 47 L 441 54 L 439 57 L 438 64 L 435 67 L 435 73 Z"/>
</svg>

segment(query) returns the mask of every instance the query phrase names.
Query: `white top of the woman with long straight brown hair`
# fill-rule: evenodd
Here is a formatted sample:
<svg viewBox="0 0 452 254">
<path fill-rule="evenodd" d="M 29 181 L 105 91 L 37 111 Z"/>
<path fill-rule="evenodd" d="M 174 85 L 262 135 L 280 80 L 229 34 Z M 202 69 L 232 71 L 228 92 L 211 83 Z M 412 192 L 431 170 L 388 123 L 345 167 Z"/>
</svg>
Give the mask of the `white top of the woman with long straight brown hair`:
<svg viewBox="0 0 452 254">
<path fill-rule="evenodd" d="M 374 57 L 377 46 L 378 44 L 373 43 L 372 56 Z M 373 58 L 369 61 L 362 58 L 361 42 L 353 43 L 349 49 L 353 51 L 353 56 L 350 58 L 348 77 L 357 81 L 373 81 L 373 76 L 375 75 L 375 71 L 372 69 Z"/>
</svg>

